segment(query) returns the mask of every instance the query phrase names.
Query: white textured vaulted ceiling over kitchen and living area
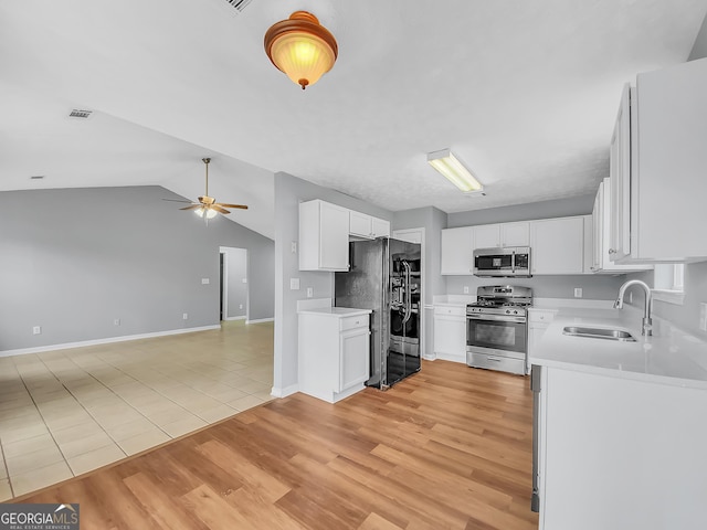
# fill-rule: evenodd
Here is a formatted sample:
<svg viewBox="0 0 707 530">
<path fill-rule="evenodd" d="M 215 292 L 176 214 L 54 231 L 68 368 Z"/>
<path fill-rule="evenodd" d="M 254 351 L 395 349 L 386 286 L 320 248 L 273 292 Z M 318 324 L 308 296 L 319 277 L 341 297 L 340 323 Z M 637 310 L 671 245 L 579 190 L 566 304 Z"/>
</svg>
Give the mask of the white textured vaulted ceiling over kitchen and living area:
<svg viewBox="0 0 707 530">
<path fill-rule="evenodd" d="M 263 51 L 296 9 L 339 43 L 304 92 Z M 251 204 L 233 219 L 271 237 L 274 171 L 394 211 L 591 193 L 622 85 L 684 62 L 706 12 L 704 0 L 0 2 L 0 190 L 145 183 L 193 198 L 211 156 L 212 194 Z M 446 147 L 486 197 L 426 165 Z"/>
</svg>

